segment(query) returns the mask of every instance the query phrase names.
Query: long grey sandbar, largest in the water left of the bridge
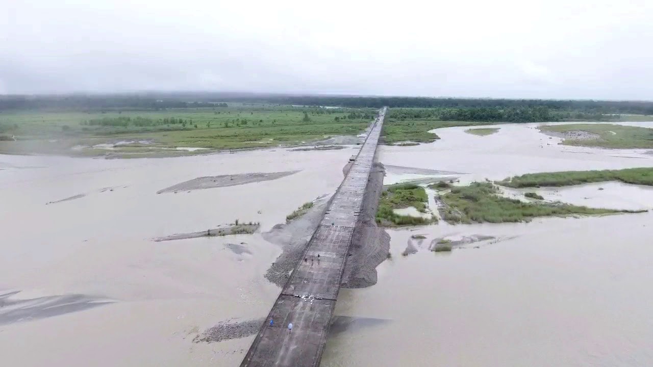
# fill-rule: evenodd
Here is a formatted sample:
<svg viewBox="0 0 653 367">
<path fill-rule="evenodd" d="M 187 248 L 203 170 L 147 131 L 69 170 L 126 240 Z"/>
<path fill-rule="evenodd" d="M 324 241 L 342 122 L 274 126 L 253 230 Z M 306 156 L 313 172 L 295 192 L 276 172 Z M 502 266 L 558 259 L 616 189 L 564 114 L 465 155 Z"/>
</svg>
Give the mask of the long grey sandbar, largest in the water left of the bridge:
<svg viewBox="0 0 653 367">
<path fill-rule="evenodd" d="M 279 178 L 296 174 L 298 170 L 286 172 L 255 172 L 255 173 L 241 173 L 241 174 L 223 174 L 220 176 L 207 176 L 198 177 L 186 182 L 177 183 L 165 189 L 157 191 L 161 193 L 176 193 L 178 191 L 191 191 L 201 189 L 212 189 L 214 187 L 227 187 L 244 185 L 252 182 L 264 182 L 277 180 Z"/>
</svg>

